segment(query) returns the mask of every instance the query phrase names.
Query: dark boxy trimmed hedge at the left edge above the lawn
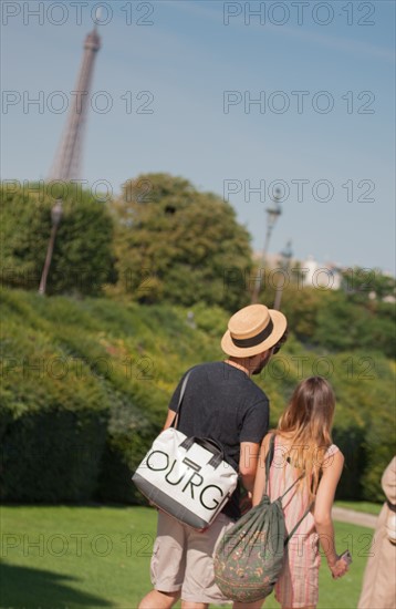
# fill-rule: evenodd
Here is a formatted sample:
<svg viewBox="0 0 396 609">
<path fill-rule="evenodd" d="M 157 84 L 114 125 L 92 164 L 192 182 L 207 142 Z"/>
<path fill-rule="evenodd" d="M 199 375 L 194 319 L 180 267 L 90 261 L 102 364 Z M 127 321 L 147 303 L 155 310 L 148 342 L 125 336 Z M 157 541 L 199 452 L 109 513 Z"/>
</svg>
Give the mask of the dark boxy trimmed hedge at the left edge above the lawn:
<svg viewBox="0 0 396 609">
<path fill-rule="evenodd" d="M 62 405 L 15 417 L 2 436 L 0 497 L 24 503 L 86 502 L 96 491 L 106 416 Z"/>
</svg>

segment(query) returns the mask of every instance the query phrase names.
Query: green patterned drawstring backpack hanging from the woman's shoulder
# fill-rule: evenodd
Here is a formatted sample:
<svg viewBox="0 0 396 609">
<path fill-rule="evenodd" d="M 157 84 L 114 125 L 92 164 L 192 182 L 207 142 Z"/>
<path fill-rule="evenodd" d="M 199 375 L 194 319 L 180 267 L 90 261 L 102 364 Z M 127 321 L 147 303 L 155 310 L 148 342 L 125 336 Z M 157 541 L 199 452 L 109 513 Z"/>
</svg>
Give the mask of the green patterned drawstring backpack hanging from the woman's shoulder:
<svg viewBox="0 0 396 609">
<path fill-rule="evenodd" d="M 311 509 L 310 505 L 288 535 L 282 499 L 304 474 L 271 503 L 267 493 L 274 441 L 272 434 L 265 458 L 265 492 L 261 502 L 225 534 L 215 555 L 216 584 L 226 598 L 239 602 L 253 602 L 272 592 L 283 567 L 288 543 Z"/>
</svg>

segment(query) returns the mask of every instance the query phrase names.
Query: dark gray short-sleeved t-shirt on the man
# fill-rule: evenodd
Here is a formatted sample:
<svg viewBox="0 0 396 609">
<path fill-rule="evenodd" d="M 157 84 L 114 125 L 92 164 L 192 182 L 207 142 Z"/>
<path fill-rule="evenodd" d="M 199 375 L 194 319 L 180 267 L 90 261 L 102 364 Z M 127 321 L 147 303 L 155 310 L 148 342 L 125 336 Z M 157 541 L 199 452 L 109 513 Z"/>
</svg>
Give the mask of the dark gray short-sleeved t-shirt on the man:
<svg viewBox="0 0 396 609">
<path fill-rule="evenodd" d="M 170 400 L 173 411 L 177 409 L 183 379 Z M 225 362 L 191 369 L 177 425 L 180 432 L 219 442 L 225 461 L 238 471 L 240 443 L 261 443 L 268 426 L 268 398 L 244 372 Z M 233 519 L 240 517 L 239 495 L 237 487 L 222 509 Z"/>
</svg>

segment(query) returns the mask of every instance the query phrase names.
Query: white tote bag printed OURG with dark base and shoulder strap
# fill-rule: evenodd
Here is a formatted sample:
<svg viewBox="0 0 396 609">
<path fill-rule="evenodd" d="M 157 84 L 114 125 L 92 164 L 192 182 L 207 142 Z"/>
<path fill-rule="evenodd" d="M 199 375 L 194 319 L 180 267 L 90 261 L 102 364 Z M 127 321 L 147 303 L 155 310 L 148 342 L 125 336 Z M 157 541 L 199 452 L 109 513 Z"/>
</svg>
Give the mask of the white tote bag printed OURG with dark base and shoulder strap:
<svg viewBox="0 0 396 609">
<path fill-rule="evenodd" d="M 238 474 L 217 442 L 187 437 L 174 427 L 188 376 L 171 426 L 154 441 L 132 479 L 159 509 L 204 530 L 232 495 Z"/>
</svg>

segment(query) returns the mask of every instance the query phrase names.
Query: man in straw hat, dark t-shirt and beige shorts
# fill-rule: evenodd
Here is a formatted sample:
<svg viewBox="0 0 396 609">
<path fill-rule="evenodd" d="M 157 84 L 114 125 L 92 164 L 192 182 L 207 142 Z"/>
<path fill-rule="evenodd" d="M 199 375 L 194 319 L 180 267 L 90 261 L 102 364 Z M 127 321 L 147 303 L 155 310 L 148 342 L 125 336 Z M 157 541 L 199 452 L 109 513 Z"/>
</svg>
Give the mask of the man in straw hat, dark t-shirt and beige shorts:
<svg viewBox="0 0 396 609">
<path fill-rule="evenodd" d="M 258 454 L 269 425 L 269 401 L 251 381 L 278 352 L 286 336 L 286 319 L 263 304 L 250 304 L 228 322 L 221 348 L 223 362 L 204 363 L 189 375 L 177 429 L 187 436 L 219 442 L 225 460 L 238 472 L 251 497 Z M 177 409 L 183 379 L 169 404 L 165 429 Z M 215 584 L 212 555 L 220 536 L 240 517 L 240 489 L 205 531 L 198 533 L 158 513 L 152 558 L 152 590 L 138 609 L 170 609 L 181 597 L 183 609 L 207 609 L 226 599 Z M 235 609 L 242 609 L 239 603 Z"/>
</svg>

